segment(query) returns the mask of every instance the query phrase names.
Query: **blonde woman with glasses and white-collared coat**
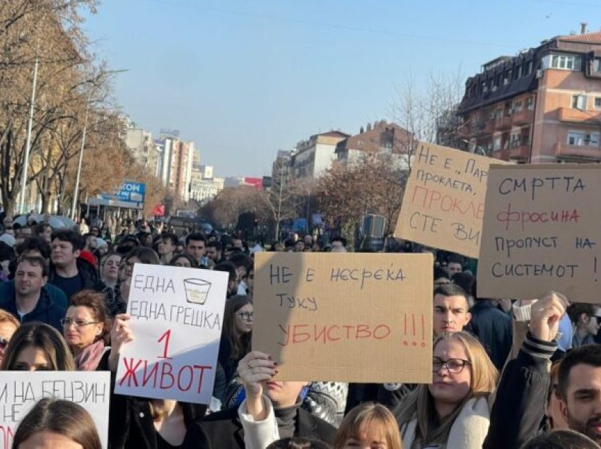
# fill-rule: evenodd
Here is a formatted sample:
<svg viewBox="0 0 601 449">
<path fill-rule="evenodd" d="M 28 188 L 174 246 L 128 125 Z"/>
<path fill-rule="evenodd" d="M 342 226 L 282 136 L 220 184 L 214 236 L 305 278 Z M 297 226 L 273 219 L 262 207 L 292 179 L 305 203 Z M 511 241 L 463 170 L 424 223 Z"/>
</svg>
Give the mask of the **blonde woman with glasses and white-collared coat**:
<svg viewBox="0 0 601 449">
<path fill-rule="evenodd" d="M 395 410 L 405 449 L 481 449 L 489 430 L 489 396 L 498 372 L 465 332 L 434 341 L 433 383 L 419 385 Z"/>
</svg>

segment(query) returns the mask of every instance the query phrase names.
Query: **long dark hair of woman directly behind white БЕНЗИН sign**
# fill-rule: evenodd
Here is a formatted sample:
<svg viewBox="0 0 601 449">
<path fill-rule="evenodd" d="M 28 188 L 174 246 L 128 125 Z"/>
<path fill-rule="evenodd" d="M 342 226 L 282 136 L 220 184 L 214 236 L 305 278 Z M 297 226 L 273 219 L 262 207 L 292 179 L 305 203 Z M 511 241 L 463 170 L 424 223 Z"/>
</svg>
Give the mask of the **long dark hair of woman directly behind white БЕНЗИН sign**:
<svg viewBox="0 0 601 449">
<path fill-rule="evenodd" d="M 29 321 L 19 326 L 4 349 L 0 370 L 14 370 L 18 355 L 30 346 L 45 352 L 52 371 L 75 371 L 75 361 L 59 331 L 51 325 L 37 321 Z"/>
</svg>

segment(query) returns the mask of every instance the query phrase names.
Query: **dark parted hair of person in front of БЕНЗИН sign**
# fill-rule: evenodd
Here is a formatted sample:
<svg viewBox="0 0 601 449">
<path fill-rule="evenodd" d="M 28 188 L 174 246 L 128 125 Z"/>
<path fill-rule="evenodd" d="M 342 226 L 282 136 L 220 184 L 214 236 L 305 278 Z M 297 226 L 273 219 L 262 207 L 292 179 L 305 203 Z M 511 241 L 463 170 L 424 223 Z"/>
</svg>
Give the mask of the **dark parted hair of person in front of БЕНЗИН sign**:
<svg viewBox="0 0 601 449">
<path fill-rule="evenodd" d="M 75 402 L 45 397 L 33 406 L 17 427 L 13 449 L 42 431 L 58 433 L 82 448 L 101 449 L 100 437 L 90 414 Z"/>
</svg>

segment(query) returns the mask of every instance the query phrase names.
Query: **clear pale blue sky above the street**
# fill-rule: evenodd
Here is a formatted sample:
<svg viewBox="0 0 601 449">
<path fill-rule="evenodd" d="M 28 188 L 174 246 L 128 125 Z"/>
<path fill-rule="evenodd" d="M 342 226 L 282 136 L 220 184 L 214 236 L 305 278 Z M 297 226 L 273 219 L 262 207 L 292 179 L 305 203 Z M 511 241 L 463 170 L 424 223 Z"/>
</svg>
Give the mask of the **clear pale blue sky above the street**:
<svg viewBox="0 0 601 449">
<path fill-rule="evenodd" d="M 580 22 L 598 0 L 103 0 L 84 29 L 124 113 L 194 140 L 216 176 L 271 174 L 278 149 L 390 119 L 410 74 L 477 73 Z"/>
</svg>

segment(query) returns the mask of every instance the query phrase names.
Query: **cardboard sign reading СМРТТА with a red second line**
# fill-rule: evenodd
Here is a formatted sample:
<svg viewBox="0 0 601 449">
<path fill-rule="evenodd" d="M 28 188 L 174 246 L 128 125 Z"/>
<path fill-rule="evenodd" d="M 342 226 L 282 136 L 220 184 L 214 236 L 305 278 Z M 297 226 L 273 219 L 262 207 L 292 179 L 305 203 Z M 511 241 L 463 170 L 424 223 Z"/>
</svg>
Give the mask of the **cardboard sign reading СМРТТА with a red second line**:
<svg viewBox="0 0 601 449">
<path fill-rule="evenodd" d="M 530 299 L 551 289 L 600 303 L 601 166 L 491 166 L 479 297 Z"/>
</svg>

